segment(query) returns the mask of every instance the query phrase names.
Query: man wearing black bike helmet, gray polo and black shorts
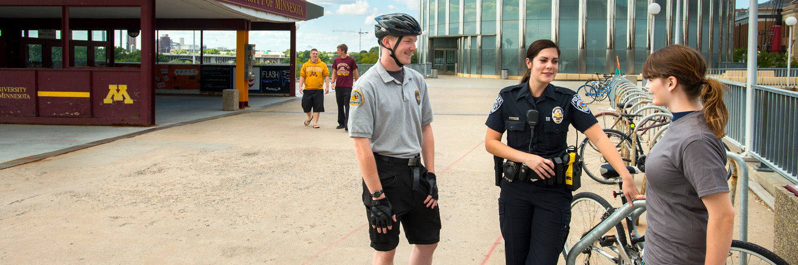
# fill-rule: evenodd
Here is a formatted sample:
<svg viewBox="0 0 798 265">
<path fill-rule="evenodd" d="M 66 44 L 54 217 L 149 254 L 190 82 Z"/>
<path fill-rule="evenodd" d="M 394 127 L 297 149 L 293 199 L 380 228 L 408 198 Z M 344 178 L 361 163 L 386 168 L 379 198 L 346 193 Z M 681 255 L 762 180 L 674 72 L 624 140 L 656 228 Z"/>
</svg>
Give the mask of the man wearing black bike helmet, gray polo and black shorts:
<svg viewBox="0 0 798 265">
<path fill-rule="evenodd" d="M 374 20 L 382 56 L 354 84 L 347 123 L 363 176 L 373 263 L 393 263 L 401 223 L 413 244 L 410 263 L 431 264 L 440 240 L 433 111 L 424 76 L 403 67 L 421 26 L 407 14 Z"/>
</svg>

